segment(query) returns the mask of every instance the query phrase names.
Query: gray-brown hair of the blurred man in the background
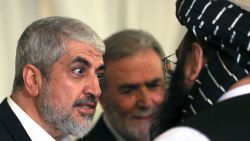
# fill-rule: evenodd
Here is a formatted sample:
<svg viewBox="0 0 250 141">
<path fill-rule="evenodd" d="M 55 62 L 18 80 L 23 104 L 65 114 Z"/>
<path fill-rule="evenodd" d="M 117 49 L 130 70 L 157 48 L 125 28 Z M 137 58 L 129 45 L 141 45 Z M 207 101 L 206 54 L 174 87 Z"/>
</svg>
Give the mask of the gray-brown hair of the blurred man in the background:
<svg viewBox="0 0 250 141">
<path fill-rule="evenodd" d="M 165 56 L 158 41 L 150 33 L 142 30 L 129 29 L 117 32 L 104 43 L 106 46 L 104 63 L 132 56 L 148 48 L 152 48 L 160 58 Z"/>
</svg>

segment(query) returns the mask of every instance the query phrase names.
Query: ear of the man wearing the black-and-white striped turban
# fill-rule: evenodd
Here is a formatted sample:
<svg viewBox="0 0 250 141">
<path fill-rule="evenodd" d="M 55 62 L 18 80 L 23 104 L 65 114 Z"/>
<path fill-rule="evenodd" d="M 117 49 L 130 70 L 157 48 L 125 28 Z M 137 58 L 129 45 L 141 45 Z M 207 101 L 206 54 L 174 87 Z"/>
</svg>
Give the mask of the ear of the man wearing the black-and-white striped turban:
<svg viewBox="0 0 250 141">
<path fill-rule="evenodd" d="M 189 71 L 187 73 L 188 80 L 194 81 L 200 74 L 202 67 L 204 66 L 205 59 L 203 57 L 203 49 L 197 42 L 192 43 L 192 52 L 189 61 Z"/>
</svg>

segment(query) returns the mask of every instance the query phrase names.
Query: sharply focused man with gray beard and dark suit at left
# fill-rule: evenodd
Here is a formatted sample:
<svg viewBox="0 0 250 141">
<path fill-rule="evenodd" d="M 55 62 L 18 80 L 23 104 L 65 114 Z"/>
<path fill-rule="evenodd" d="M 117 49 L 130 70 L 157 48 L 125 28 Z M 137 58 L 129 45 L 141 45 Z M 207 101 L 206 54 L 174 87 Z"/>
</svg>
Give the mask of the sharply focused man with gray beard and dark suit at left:
<svg viewBox="0 0 250 141">
<path fill-rule="evenodd" d="M 47 17 L 28 26 L 17 45 L 12 94 L 0 105 L 0 139 L 83 137 L 101 95 L 104 50 L 76 19 Z"/>
</svg>

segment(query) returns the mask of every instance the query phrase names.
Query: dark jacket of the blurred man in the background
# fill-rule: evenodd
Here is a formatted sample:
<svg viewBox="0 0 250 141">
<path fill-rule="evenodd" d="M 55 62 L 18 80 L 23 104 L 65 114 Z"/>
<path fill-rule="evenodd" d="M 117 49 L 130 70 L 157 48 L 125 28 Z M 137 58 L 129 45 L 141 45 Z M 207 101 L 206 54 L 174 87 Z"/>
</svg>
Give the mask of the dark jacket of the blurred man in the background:
<svg viewBox="0 0 250 141">
<path fill-rule="evenodd" d="M 102 115 L 88 135 L 78 141 L 116 141 L 116 139 L 109 131 Z"/>
</svg>

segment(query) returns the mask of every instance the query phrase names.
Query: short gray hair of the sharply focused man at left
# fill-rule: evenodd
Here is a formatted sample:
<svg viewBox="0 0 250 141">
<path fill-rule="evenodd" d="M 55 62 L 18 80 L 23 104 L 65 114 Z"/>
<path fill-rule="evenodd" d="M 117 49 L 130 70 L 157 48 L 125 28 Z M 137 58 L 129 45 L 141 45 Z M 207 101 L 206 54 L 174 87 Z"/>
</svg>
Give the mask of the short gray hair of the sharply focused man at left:
<svg viewBox="0 0 250 141">
<path fill-rule="evenodd" d="M 68 17 L 47 17 L 33 22 L 21 35 L 16 49 L 13 92 L 24 84 L 22 71 L 26 64 L 40 69 L 48 78 L 52 65 L 65 53 L 69 40 L 85 42 L 104 52 L 100 37 L 83 22 Z"/>
</svg>

